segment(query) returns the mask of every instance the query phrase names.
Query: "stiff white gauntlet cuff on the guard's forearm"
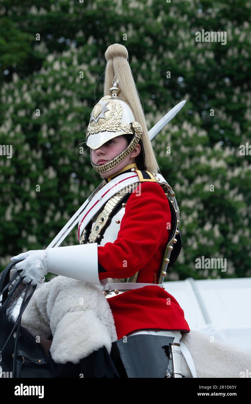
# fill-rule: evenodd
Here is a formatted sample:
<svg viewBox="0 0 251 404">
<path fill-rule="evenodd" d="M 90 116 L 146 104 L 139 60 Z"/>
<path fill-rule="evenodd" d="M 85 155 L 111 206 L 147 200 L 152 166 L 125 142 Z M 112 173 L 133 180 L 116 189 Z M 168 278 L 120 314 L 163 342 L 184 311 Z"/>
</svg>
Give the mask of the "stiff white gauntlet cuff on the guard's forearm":
<svg viewBox="0 0 251 404">
<path fill-rule="evenodd" d="M 46 249 L 48 272 L 104 286 L 107 279 L 98 278 L 98 244 L 79 244 Z"/>
</svg>

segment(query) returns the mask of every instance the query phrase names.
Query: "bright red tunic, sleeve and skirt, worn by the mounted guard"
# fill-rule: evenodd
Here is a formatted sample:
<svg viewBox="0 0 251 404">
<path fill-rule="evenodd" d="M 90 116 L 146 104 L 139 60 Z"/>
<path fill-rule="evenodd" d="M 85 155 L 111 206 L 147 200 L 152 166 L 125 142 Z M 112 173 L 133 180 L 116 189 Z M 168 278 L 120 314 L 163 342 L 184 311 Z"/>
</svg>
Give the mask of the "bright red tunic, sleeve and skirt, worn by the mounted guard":
<svg viewBox="0 0 251 404">
<path fill-rule="evenodd" d="M 117 239 L 98 246 L 99 279 L 128 278 L 139 271 L 137 282 L 158 280 L 169 238 L 171 211 L 163 188 L 140 183 L 128 198 Z M 140 191 L 140 192 L 139 192 Z M 164 283 L 168 289 L 168 282 Z M 159 286 L 144 286 L 107 299 L 118 339 L 142 329 L 190 332 L 184 311 L 172 295 Z"/>
</svg>

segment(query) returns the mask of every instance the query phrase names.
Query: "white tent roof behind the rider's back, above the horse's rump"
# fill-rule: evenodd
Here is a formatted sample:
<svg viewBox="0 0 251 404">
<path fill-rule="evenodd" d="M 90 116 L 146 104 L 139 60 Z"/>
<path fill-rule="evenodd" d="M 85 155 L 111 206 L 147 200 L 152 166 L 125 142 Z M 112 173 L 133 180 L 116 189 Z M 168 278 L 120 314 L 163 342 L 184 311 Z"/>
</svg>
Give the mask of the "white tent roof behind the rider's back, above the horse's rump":
<svg viewBox="0 0 251 404">
<path fill-rule="evenodd" d="M 251 351 L 251 278 L 164 282 L 190 330 Z"/>
</svg>

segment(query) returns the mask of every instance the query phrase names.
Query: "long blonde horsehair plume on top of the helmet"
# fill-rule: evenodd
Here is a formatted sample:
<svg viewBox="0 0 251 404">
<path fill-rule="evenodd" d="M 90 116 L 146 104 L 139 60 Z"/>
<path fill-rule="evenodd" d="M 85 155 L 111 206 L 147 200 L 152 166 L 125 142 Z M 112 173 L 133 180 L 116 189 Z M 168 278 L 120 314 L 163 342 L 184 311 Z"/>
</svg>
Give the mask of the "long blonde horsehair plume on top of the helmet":
<svg viewBox="0 0 251 404">
<path fill-rule="evenodd" d="M 104 97 L 111 95 L 109 89 L 113 86 L 113 78 L 115 75 L 115 81 L 117 81 L 121 91 L 118 96 L 124 98 L 125 101 L 131 105 L 135 120 L 141 124 L 143 129 L 141 140 L 146 170 L 151 173 L 158 173 L 159 165 L 149 139 L 144 111 L 132 76 L 132 70 L 128 63 L 128 51 L 123 45 L 113 44 L 108 46 L 105 52 L 105 58 L 107 65 L 105 68 Z"/>
</svg>

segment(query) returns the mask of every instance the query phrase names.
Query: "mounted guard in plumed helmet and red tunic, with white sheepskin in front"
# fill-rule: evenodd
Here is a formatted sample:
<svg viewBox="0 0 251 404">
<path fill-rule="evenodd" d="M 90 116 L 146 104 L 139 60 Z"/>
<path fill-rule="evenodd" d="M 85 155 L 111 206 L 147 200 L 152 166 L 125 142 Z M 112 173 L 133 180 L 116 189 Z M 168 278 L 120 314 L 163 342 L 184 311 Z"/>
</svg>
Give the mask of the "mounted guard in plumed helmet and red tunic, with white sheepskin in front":
<svg viewBox="0 0 251 404">
<path fill-rule="evenodd" d="M 35 291 L 22 325 L 38 335 L 36 318 L 43 324 L 53 377 L 182 377 L 176 354 L 190 328 L 163 285 L 180 252 L 179 210 L 159 173 L 125 46 L 109 46 L 105 58 L 104 97 L 86 134 L 102 183 L 79 217 L 79 245 L 12 258 L 23 259 L 15 267 L 31 286 L 59 275 Z"/>
</svg>

